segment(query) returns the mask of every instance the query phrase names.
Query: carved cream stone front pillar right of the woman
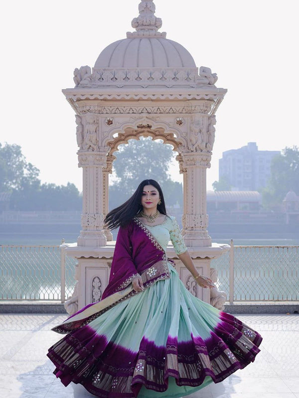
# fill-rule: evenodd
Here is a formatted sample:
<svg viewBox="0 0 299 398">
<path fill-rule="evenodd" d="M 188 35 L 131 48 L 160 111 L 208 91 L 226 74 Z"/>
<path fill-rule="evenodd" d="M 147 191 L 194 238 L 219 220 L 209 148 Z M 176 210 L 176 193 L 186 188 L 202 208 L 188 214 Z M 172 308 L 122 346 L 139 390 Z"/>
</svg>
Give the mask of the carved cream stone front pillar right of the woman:
<svg viewBox="0 0 299 398">
<path fill-rule="evenodd" d="M 184 178 L 184 229 L 183 236 L 188 247 L 211 246 L 208 235 L 206 199 L 206 169 L 211 154 L 207 152 L 182 153 Z"/>
</svg>

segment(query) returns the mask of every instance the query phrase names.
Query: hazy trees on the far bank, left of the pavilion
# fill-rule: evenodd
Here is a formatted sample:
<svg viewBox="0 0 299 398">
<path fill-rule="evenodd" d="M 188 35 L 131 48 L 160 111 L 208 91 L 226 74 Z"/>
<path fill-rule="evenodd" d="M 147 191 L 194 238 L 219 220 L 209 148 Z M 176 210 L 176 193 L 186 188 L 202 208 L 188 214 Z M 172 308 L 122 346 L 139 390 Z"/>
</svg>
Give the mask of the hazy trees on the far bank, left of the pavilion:
<svg viewBox="0 0 299 398">
<path fill-rule="evenodd" d="M 81 210 L 82 199 L 74 184 L 41 184 L 38 175 L 19 145 L 0 144 L 0 192 L 11 192 L 12 210 Z"/>
</svg>

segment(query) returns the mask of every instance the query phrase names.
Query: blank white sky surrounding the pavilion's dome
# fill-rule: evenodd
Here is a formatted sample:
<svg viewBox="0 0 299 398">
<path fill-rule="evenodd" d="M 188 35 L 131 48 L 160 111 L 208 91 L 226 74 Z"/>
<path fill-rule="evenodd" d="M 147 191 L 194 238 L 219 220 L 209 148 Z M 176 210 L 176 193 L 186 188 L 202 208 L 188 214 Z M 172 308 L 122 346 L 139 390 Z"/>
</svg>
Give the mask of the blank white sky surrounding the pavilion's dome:
<svg viewBox="0 0 299 398">
<path fill-rule="evenodd" d="M 222 152 L 255 141 L 261 150 L 299 145 L 297 0 L 155 0 L 161 31 L 228 89 L 216 117 L 207 188 L 218 180 Z M 74 183 L 74 111 L 61 89 L 73 71 L 94 66 L 110 43 L 133 31 L 139 0 L 5 1 L 1 5 L 0 142 L 16 143 L 42 182 Z M 8 73 L 9 72 L 9 73 Z M 296 76 L 294 77 L 294 75 Z M 178 167 L 172 177 L 179 181 Z"/>
</svg>

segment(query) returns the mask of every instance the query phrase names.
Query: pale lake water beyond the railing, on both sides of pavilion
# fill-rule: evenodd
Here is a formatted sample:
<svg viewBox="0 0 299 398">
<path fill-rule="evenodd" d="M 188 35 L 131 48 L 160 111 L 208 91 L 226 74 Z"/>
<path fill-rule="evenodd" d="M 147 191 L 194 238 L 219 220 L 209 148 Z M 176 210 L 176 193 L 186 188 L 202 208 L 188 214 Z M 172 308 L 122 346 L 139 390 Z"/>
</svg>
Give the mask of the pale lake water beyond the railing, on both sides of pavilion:
<svg viewBox="0 0 299 398">
<path fill-rule="evenodd" d="M 61 233 L 60 233 L 61 232 Z M 245 246 L 299 246 L 299 236 L 279 234 L 211 234 L 213 242 Z M 1 232 L 0 245 L 60 245 L 77 241 L 77 232 Z M 298 299 L 298 248 L 235 249 L 235 297 L 237 300 Z M 11 253 L 11 254 L 9 254 Z M 75 260 L 66 264 L 66 296 L 75 284 Z M 229 255 L 212 261 L 219 273 L 219 288 L 229 291 Z M 2 248 L 0 250 L 0 299 L 59 299 L 60 254 L 55 248 Z M 47 281 L 47 285 L 45 285 Z M 286 297 L 287 294 L 287 297 Z"/>
</svg>

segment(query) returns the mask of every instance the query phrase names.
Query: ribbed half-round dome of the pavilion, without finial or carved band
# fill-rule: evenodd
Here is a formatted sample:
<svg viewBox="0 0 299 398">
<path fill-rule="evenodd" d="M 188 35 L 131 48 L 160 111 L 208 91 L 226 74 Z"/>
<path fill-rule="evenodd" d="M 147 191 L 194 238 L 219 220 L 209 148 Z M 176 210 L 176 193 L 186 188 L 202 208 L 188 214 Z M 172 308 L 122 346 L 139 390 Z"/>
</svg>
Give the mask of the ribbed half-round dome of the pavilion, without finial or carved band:
<svg viewBox="0 0 299 398">
<path fill-rule="evenodd" d="M 109 44 L 99 55 L 100 68 L 196 68 L 191 54 L 163 37 L 134 37 Z"/>
</svg>

